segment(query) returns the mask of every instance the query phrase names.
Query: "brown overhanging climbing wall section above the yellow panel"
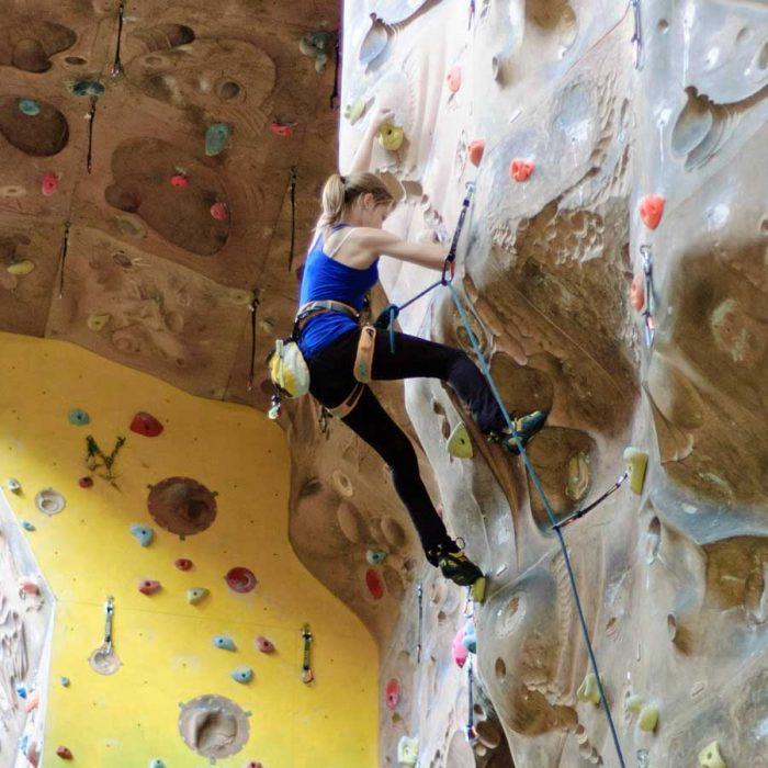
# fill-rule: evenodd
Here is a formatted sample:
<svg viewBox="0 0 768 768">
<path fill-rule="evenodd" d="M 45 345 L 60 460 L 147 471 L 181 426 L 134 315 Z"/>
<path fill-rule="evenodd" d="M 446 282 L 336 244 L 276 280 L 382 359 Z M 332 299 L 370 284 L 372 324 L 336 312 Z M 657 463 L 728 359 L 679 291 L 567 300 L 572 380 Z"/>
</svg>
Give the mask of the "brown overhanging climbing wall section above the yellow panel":
<svg viewBox="0 0 768 768">
<path fill-rule="evenodd" d="M 338 3 L 0 0 L 0 328 L 264 408 L 336 165 Z"/>
</svg>

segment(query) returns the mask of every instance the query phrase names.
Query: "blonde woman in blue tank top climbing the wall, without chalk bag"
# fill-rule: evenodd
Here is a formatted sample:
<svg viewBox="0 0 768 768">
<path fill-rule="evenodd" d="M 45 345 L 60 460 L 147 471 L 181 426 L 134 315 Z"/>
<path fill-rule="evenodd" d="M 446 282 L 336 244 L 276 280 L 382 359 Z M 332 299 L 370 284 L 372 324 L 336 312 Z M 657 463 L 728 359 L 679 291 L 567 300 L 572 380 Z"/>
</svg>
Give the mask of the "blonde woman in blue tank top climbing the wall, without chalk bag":
<svg viewBox="0 0 768 768">
<path fill-rule="evenodd" d="M 448 249 L 409 242 L 382 228 L 394 199 L 382 180 L 365 172 L 373 140 L 391 113 L 371 122 L 346 176 L 334 173 L 323 189 L 323 213 L 302 276 L 297 313 L 298 347 L 309 369 L 309 392 L 371 445 L 388 464 L 397 495 L 410 513 L 427 560 L 462 586 L 483 577 L 445 530 L 419 474 L 416 451 L 387 415 L 370 387 L 353 375 L 360 341 L 359 313 L 365 293 L 379 280 L 382 255 L 442 270 Z M 450 264 L 452 273 L 452 262 Z M 518 449 L 501 410 L 479 369 L 461 349 L 406 334 L 376 334 L 370 370 L 372 380 L 433 377 L 448 382 L 470 408 L 481 430 L 510 453 Z M 535 411 L 516 419 L 524 444 L 546 415 Z"/>
</svg>

